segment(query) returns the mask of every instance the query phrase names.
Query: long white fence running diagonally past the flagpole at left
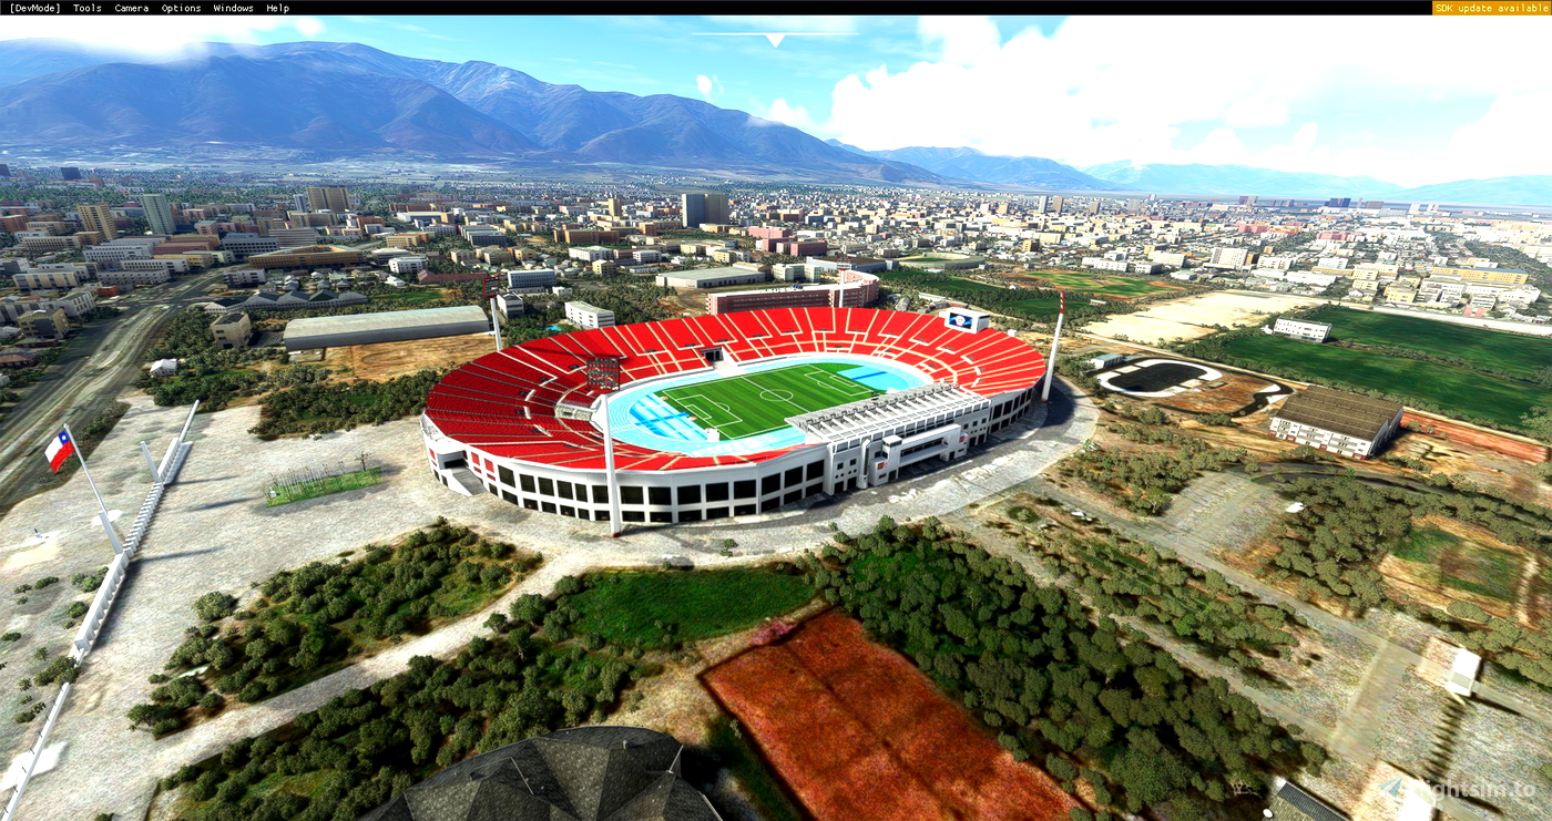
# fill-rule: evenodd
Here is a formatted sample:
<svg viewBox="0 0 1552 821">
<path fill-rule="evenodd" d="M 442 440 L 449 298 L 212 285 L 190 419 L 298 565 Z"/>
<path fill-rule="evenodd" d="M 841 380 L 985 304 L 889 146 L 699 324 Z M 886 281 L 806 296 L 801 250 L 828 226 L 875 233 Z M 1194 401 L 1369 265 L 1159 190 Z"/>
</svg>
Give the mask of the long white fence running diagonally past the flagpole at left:
<svg viewBox="0 0 1552 821">
<path fill-rule="evenodd" d="M 197 410 L 199 402 L 194 402 L 188 419 L 183 421 L 183 430 L 168 445 L 168 452 L 161 458 L 161 466 L 154 476 L 155 481 L 151 486 L 151 492 L 146 494 L 146 500 L 140 504 L 135 523 L 129 528 L 129 537 L 124 539 L 124 549 L 109 562 L 107 574 L 102 577 L 98 593 L 92 599 L 92 607 L 87 608 L 85 619 L 82 619 L 81 629 L 76 630 L 76 641 L 70 650 L 70 658 L 74 660 L 76 667 L 82 666 L 87 655 L 92 653 L 92 647 L 96 644 L 98 636 L 102 633 L 102 625 L 107 624 L 107 616 L 113 610 L 113 602 L 118 601 L 118 593 L 124 587 L 124 577 L 129 574 L 129 562 L 140 551 L 140 545 L 146 539 L 146 531 L 151 528 L 151 520 L 157 515 L 161 495 L 166 492 L 166 486 L 177 481 L 178 470 L 183 469 L 183 459 L 188 456 L 191 447 L 183 439 L 189 433 L 189 422 L 194 421 Z M 12 821 L 16 818 L 22 793 L 26 790 L 28 782 L 33 781 L 33 771 L 37 770 L 37 762 L 42 760 L 43 750 L 48 747 L 48 734 L 54 729 L 54 722 L 59 720 L 59 712 L 64 709 L 67 697 L 70 697 L 70 681 L 59 686 L 54 705 L 48 711 L 48 720 L 43 722 L 43 731 L 39 733 L 33 748 L 19 759 L 22 762 L 22 776 L 17 779 L 16 792 L 11 793 L 11 801 L 6 804 L 5 812 L 0 813 L 0 821 Z"/>
</svg>

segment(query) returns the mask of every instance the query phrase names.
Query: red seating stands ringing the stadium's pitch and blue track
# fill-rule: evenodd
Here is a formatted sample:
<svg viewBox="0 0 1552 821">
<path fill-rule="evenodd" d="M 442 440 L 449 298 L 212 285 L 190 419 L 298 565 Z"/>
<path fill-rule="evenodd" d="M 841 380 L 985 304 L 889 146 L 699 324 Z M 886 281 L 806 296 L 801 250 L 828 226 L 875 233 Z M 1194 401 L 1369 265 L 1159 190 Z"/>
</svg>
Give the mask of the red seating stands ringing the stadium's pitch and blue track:
<svg viewBox="0 0 1552 821">
<path fill-rule="evenodd" d="M 557 402 L 585 407 L 602 393 L 587 383 L 587 362 L 618 357 L 621 382 L 630 383 L 708 368 L 706 348 L 722 348 L 739 362 L 796 354 L 888 359 L 982 396 L 1029 388 L 1046 371 L 1040 352 L 1013 337 L 965 334 L 931 315 L 855 307 L 751 310 L 525 341 L 447 374 L 427 397 L 425 414 L 444 435 L 495 456 L 596 470 L 604 467 L 602 433 L 556 416 Z M 750 464 L 785 452 L 686 456 L 615 445 L 621 470 Z"/>
</svg>

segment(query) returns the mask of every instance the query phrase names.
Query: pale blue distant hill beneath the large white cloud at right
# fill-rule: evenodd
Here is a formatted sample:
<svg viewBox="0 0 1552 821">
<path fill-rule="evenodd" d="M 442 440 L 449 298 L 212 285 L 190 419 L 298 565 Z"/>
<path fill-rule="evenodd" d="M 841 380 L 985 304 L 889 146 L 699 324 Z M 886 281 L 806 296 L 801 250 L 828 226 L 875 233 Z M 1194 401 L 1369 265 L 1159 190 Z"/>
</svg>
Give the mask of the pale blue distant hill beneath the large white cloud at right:
<svg viewBox="0 0 1552 821">
<path fill-rule="evenodd" d="M 1401 186 L 1375 180 L 1374 177 L 1338 177 L 1335 174 L 1273 171 L 1268 168 L 1235 165 L 1135 165 L 1116 161 L 1090 166 L 1083 171 L 1111 185 L 1133 191 L 1158 191 L 1161 194 L 1384 199 L 1401 191 Z"/>
</svg>

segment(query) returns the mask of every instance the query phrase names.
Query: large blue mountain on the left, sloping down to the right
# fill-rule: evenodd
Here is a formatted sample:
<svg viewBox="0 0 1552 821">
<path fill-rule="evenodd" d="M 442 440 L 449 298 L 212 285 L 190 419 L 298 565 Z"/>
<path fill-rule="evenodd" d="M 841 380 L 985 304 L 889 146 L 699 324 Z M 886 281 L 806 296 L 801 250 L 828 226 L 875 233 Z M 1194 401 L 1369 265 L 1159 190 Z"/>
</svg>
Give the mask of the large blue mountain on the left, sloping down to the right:
<svg viewBox="0 0 1552 821">
<path fill-rule="evenodd" d="M 36 40 L 5 45 L 0 59 L 26 48 L 65 64 L 79 59 Z M 281 147 L 317 158 L 410 152 L 815 182 L 950 182 L 681 96 L 590 92 L 487 62 L 422 61 L 357 43 L 203 50 L 194 59 L 107 62 L 6 85 L 0 140 L 140 151 L 200 146 L 203 155 L 213 146 Z"/>
</svg>

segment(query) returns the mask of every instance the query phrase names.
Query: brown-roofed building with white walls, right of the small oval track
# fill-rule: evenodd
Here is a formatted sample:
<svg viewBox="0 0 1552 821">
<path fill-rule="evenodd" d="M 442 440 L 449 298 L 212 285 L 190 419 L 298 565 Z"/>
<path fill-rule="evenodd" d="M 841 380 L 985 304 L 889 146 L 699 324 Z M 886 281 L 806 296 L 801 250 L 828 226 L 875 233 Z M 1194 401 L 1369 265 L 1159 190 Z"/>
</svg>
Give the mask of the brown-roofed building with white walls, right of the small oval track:
<svg viewBox="0 0 1552 821">
<path fill-rule="evenodd" d="M 1367 459 L 1401 427 L 1401 405 L 1310 385 L 1293 394 L 1271 421 L 1271 435 L 1301 445 Z"/>
</svg>

